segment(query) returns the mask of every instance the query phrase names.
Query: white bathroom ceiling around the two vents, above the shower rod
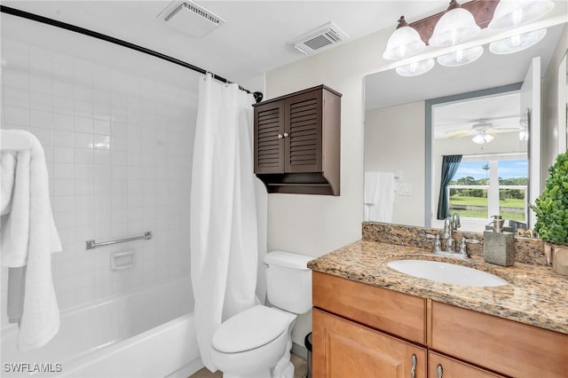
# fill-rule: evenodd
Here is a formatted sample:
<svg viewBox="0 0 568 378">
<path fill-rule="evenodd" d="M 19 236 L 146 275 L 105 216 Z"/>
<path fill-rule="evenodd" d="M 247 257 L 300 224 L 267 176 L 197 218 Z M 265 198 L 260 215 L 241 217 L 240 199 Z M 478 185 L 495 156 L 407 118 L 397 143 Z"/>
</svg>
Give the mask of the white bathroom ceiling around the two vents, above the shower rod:
<svg viewBox="0 0 568 378">
<path fill-rule="evenodd" d="M 333 21 L 346 42 L 406 20 L 443 11 L 447 0 L 422 1 L 210 1 L 199 0 L 226 23 L 203 38 L 166 26 L 157 16 L 171 1 L 3 1 L 3 4 L 111 35 L 162 52 L 234 83 L 305 55 L 290 43 L 298 35 Z M 177 2 L 181 3 L 181 2 Z M 262 81 L 260 84 L 262 85 Z M 263 88 L 249 88 L 257 91 Z"/>
</svg>

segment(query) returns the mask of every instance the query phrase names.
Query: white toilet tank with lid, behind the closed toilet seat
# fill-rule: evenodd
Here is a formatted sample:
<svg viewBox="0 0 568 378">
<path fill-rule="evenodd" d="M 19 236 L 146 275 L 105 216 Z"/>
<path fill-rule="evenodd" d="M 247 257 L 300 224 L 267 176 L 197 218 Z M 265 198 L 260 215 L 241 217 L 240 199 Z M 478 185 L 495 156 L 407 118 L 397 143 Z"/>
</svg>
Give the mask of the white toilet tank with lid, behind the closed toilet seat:
<svg viewBox="0 0 568 378">
<path fill-rule="evenodd" d="M 282 310 L 303 314 L 312 309 L 312 256 L 273 251 L 264 257 L 266 292 L 270 303 Z"/>
</svg>

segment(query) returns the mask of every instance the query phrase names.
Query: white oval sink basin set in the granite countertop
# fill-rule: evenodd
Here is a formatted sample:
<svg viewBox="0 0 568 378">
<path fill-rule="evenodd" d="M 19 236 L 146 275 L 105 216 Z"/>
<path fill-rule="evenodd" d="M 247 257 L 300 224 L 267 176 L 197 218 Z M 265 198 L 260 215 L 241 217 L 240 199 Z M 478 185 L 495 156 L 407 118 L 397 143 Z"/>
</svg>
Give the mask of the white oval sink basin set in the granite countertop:
<svg viewBox="0 0 568 378">
<path fill-rule="evenodd" d="M 490 287 L 503 286 L 509 282 L 494 274 L 478 271 L 456 264 L 428 260 L 395 260 L 387 263 L 395 271 L 426 280 L 453 285 Z"/>
</svg>

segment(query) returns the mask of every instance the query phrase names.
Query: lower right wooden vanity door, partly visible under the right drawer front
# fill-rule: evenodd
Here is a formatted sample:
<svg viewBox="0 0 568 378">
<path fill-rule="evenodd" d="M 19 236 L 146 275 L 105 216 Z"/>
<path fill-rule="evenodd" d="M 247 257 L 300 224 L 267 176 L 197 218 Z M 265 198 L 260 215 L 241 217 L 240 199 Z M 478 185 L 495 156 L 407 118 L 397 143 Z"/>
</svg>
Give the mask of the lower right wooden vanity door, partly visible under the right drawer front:
<svg viewBox="0 0 568 378">
<path fill-rule="evenodd" d="M 438 353 L 428 353 L 429 378 L 500 378 L 503 375 L 493 374 L 476 366 L 464 364 L 454 358 L 447 358 Z"/>
</svg>

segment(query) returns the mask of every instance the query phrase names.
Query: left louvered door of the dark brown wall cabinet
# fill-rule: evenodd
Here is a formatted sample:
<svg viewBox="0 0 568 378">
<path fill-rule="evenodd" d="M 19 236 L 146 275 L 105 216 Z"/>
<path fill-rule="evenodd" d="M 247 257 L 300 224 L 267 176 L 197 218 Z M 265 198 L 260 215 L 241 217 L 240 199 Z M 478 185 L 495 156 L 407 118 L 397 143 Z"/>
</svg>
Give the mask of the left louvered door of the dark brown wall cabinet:
<svg viewBox="0 0 568 378">
<path fill-rule="evenodd" d="M 284 172 L 284 101 L 255 107 L 255 173 Z"/>
</svg>

